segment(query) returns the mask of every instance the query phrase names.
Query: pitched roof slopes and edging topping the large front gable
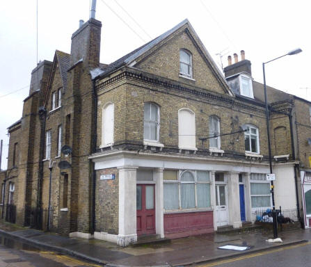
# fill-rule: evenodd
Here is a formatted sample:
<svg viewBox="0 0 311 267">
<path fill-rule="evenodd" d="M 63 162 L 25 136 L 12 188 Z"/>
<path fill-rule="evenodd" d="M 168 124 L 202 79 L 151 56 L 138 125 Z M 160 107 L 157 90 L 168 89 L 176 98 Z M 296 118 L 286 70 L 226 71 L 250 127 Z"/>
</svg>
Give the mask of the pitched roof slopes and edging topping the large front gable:
<svg viewBox="0 0 311 267">
<path fill-rule="evenodd" d="M 138 47 L 138 49 L 135 49 L 134 51 L 131 51 L 129 54 L 127 54 L 125 56 L 122 56 L 122 58 L 119 58 L 118 60 L 115 60 L 115 62 L 109 64 L 108 66 L 106 66 L 104 68 L 103 67 L 97 67 L 94 70 L 91 70 L 90 74 L 92 76 L 92 79 L 95 79 L 95 78 L 97 78 L 99 76 L 104 76 L 106 74 L 109 74 L 110 72 L 113 72 L 114 70 L 118 70 L 118 68 L 120 68 L 120 67 L 122 67 L 124 65 L 131 65 L 131 63 L 135 62 L 135 60 L 139 56 L 143 55 L 145 52 L 147 52 L 150 49 L 152 49 L 152 47 L 154 47 L 155 45 L 159 44 L 159 42 L 161 42 L 162 40 L 166 39 L 169 35 L 171 35 L 175 31 L 177 31 L 178 29 L 182 28 L 182 26 L 184 26 L 186 24 L 189 26 L 189 29 L 191 30 L 193 35 L 195 35 L 196 40 L 198 40 L 198 42 L 200 43 L 200 47 L 202 47 L 203 52 L 205 53 L 205 56 L 207 57 L 207 60 L 209 61 L 209 64 L 214 69 L 216 76 L 218 76 L 218 79 L 221 80 L 221 82 L 223 83 L 223 86 L 225 87 L 227 92 L 229 92 L 230 95 L 234 95 L 232 90 L 229 88 L 228 84 L 226 83 L 225 77 L 220 72 L 220 70 L 218 70 L 218 67 L 216 67 L 216 63 L 212 59 L 212 56 L 210 56 L 210 54 L 207 51 L 207 49 L 205 48 L 204 44 L 202 44 L 200 38 L 198 38 L 198 35 L 196 34 L 196 31 L 194 31 L 194 29 L 191 26 L 191 24 L 190 24 L 188 19 L 184 19 L 182 22 L 177 24 L 172 29 L 170 29 L 170 30 L 166 31 L 165 33 L 159 35 L 154 40 L 151 40 L 150 42 L 147 42 L 146 44 L 143 44 L 143 46 Z"/>
</svg>

